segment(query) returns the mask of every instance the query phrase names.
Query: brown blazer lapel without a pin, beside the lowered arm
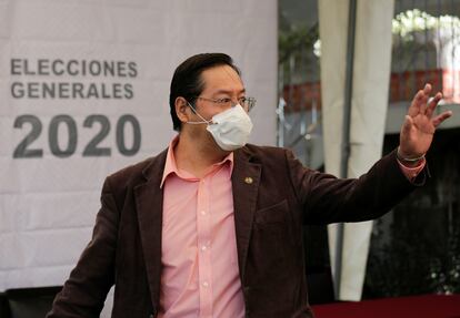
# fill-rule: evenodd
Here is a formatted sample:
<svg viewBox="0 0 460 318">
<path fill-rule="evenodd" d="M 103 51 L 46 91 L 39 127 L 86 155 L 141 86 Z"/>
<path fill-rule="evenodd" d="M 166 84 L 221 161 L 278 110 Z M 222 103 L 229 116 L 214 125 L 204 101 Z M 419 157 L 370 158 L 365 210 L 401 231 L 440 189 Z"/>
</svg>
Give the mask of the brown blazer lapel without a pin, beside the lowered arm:
<svg viewBox="0 0 460 318">
<path fill-rule="evenodd" d="M 146 261 L 151 299 L 158 307 L 161 281 L 161 229 L 163 218 L 163 189 L 160 188 L 167 151 L 153 158 L 142 172 L 146 183 L 134 187 L 139 232 Z"/>
</svg>

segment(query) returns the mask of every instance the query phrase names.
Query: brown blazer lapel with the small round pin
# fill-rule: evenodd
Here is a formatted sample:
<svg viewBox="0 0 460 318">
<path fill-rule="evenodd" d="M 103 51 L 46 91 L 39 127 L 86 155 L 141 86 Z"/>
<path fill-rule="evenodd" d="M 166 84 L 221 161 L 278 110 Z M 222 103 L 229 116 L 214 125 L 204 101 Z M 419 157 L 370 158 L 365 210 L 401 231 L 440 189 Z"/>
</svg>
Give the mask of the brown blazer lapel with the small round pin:
<svg viewBox="0 0 460 318">
<path fill-rule="evenodd" d="M 250 162 L 247 148 L 234 152 L 231 177 L 233 191 L 234 229 L 237 236 L 238 266 L 244 281 L 246 261 L 251 239 L 252 220 L 260 183 L 261 165 Z"/>
</svg>

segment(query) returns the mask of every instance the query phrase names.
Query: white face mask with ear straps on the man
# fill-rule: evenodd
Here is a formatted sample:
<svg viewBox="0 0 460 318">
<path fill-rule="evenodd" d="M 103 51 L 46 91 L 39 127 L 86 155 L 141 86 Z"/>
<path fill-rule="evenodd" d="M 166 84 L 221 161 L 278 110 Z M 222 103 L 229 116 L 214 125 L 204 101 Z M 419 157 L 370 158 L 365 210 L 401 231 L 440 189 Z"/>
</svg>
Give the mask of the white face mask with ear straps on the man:
<svg viewBox="0 0 460 318">
<path fill-rule="evenodd" d="M 224 151 L 234 151 L 248 143 L 252 131 L 252 122 L 247 112 L 237 104 L 227 111 L 204 120 L 197 110 L 190 105 L 193 112 L 203 121 L 187 122 L 187 124 L 208 124 L 207 131 L 211 133 L 216 143 Z"/>
</svg>

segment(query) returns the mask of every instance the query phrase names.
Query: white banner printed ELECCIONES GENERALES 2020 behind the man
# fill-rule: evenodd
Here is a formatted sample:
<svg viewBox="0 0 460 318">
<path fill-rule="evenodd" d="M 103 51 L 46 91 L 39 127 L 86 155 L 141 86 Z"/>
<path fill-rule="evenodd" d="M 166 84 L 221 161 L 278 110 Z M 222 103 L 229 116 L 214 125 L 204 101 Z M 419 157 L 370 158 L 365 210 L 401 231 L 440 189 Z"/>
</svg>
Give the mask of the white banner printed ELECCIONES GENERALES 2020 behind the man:
<svg viewBox="0 0 460 318">
<path fill-rule="evenodd" d="M 171 76 L 199 52 L 233 57 L 274 144 L 277 1 L 0 1 L 0 291 L 63 284 L 106 175 L 174 135 Z"/>
</svg>

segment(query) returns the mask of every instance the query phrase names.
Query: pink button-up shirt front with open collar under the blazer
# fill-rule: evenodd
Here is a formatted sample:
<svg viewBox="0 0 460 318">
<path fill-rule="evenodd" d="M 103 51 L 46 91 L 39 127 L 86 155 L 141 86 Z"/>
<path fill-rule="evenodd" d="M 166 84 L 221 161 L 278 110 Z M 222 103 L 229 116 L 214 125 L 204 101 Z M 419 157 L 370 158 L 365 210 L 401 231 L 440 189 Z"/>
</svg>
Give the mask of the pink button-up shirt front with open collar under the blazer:
<svg viewBox="0 0 460 318">
<path fill-rule="evenodd" d="M 244 317 L 233 218 L 233 153 L 198 178 L 168 150 L 159 317 Z"/>
</svg>

